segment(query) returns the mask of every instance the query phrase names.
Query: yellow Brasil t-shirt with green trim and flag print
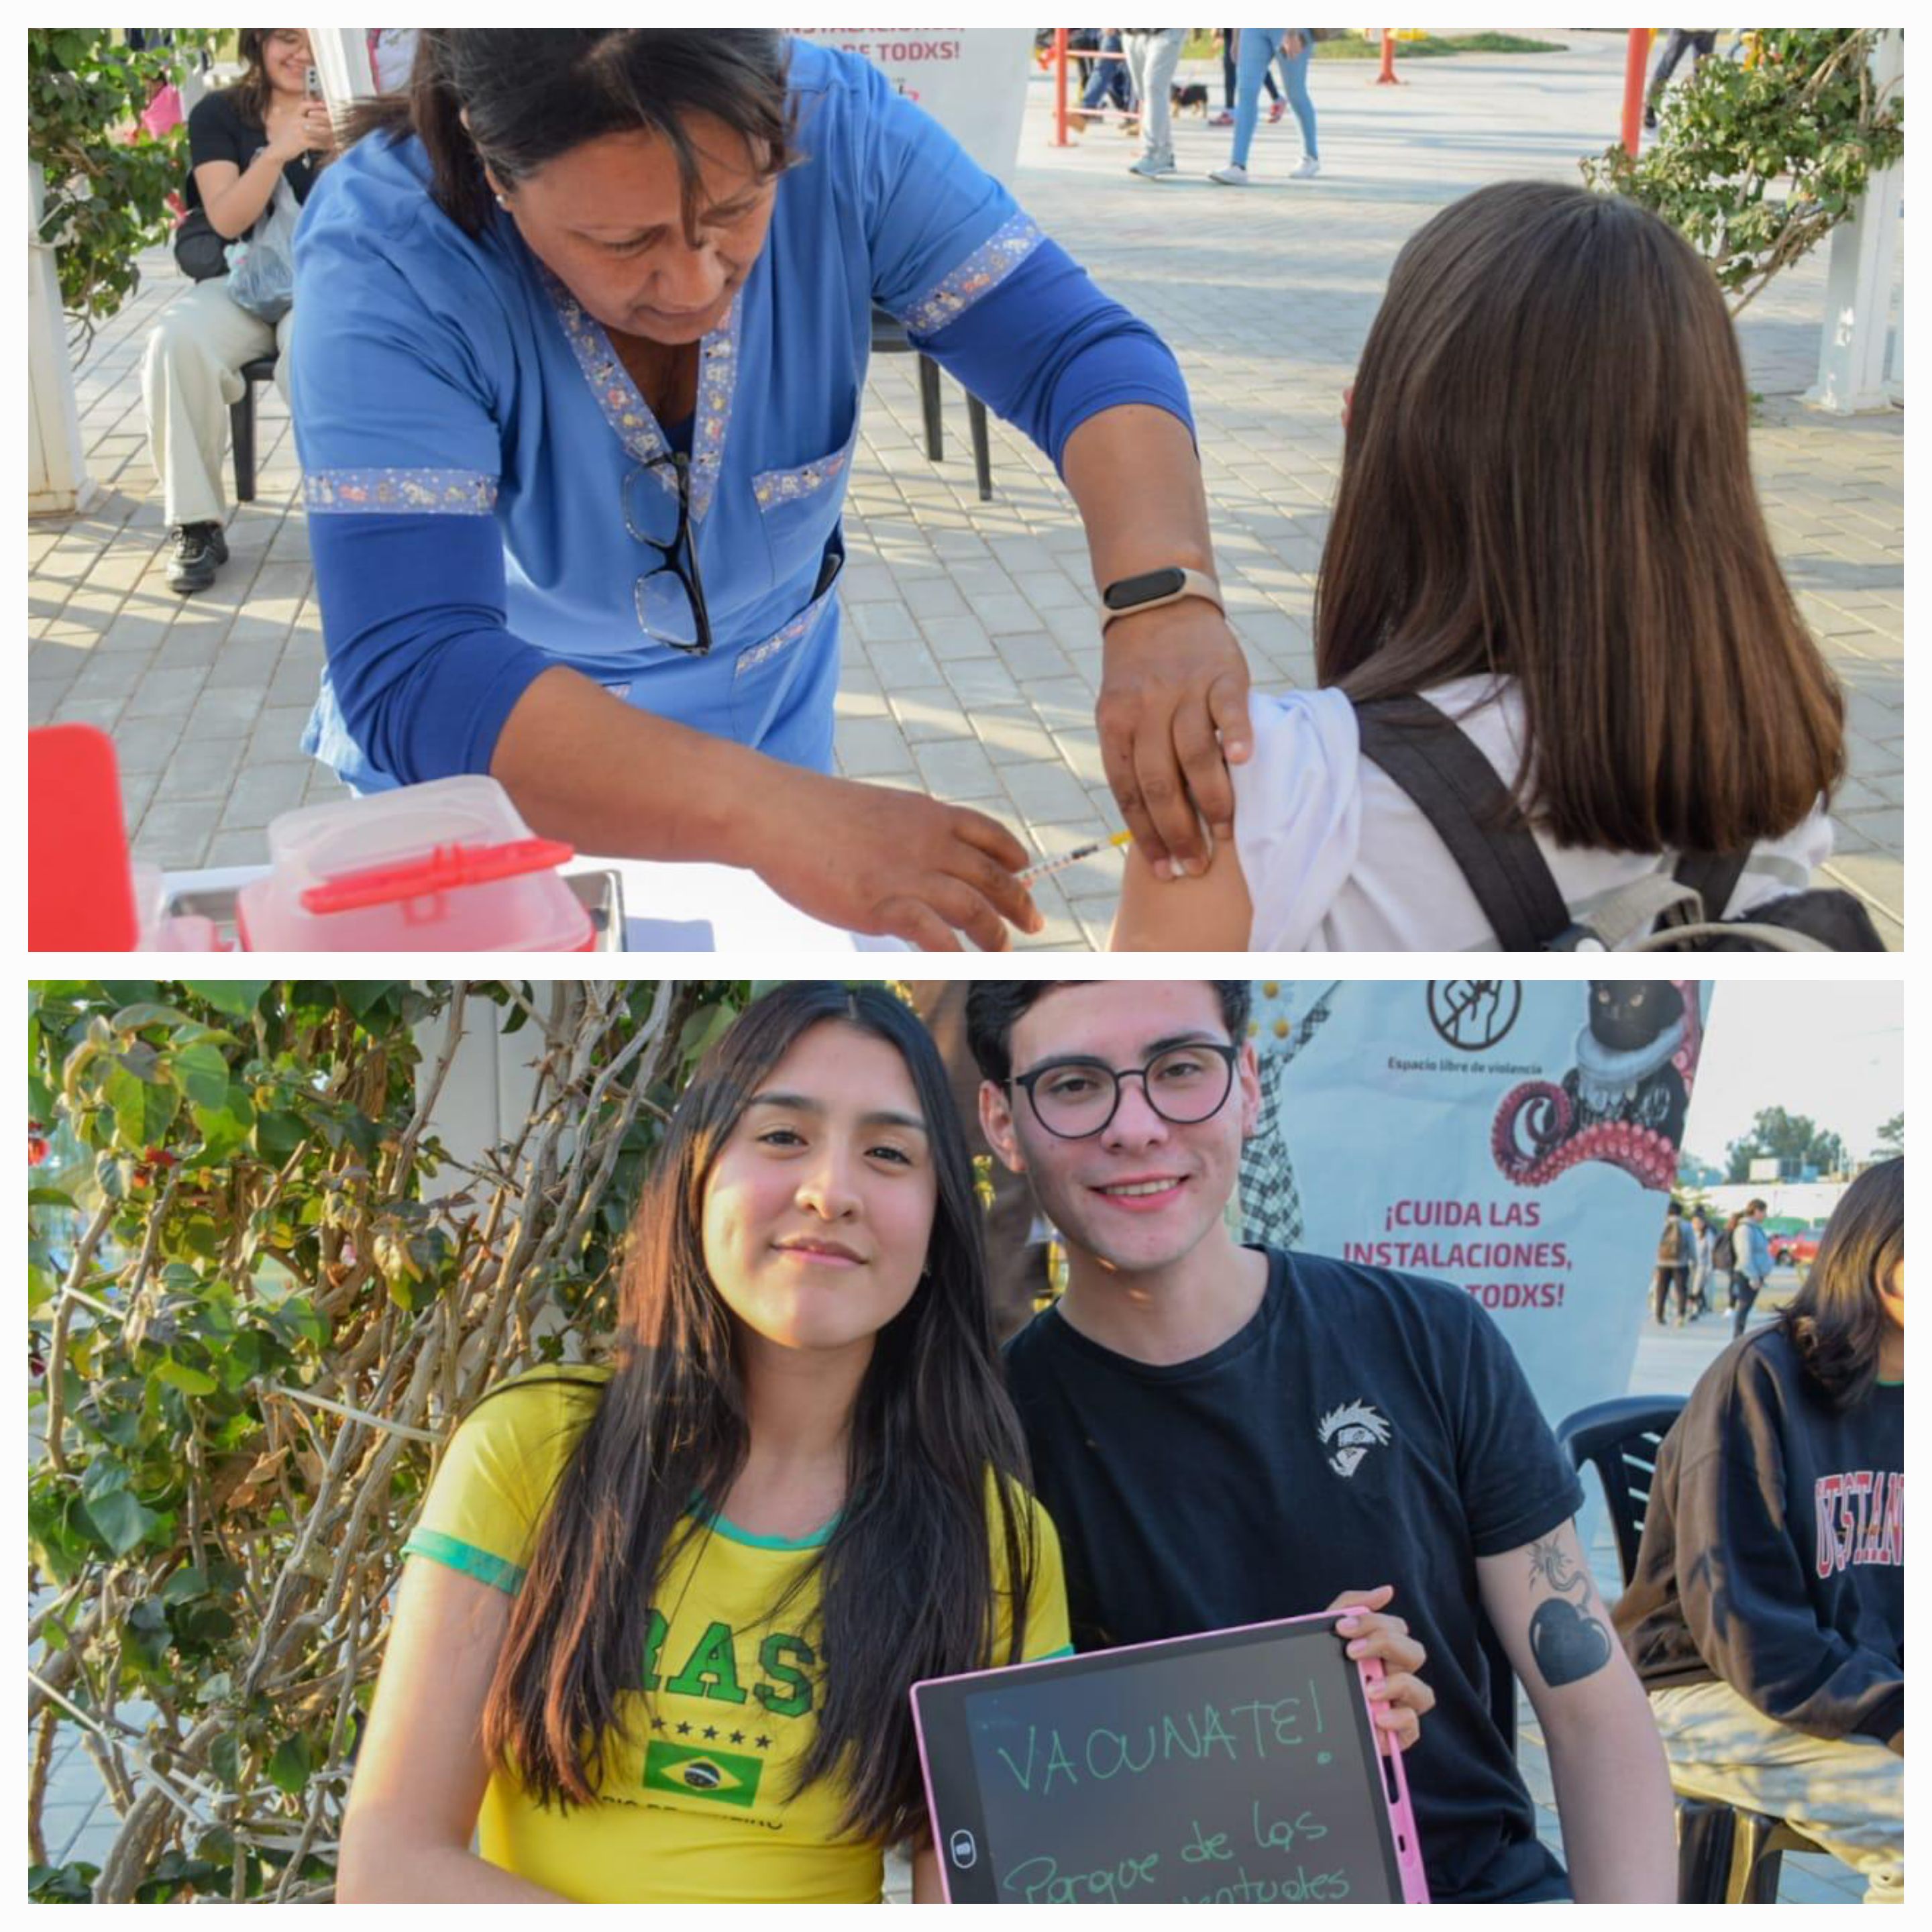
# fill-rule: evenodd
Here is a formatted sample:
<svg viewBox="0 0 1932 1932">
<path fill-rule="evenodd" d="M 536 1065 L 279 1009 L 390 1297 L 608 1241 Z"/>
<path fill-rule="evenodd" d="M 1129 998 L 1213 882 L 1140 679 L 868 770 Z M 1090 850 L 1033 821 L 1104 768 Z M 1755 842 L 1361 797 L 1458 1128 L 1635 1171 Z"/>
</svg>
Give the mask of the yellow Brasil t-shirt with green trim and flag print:
<svg viewBox="0 0 1932 1932">
<path fill-rule="evenodd" d="M 485 1401 L 456 1432 L 406 1551 L 516 1594 L 605 1381 L 609 1370 L 539 1370 Z M 1032 1499 L 1028 1509 L 1039 1557 L 1024 1648 L 1059 1656 L 1059 1540 L 1045 1511 Z M 825 1673 L 819 1586 L 800 1577 L 829 1534 L 786 1542 L 711 1517 L 651 1594 L 638 1694 L 620 1706 L 620 1735 L 603 1741 L 601 1799 L 545 1810 L 497 1772 L 483 1857 L 585 1903 L 877 1899 L 883 1847 L 838 1835 L 844 1785 L 794 1791 Z M 993 1577 L 1003 1586 L 997 1538 Z M 989 1663 L 1007 1662 L 1005 1633 L 1001 1615 Z"/>
</svg>

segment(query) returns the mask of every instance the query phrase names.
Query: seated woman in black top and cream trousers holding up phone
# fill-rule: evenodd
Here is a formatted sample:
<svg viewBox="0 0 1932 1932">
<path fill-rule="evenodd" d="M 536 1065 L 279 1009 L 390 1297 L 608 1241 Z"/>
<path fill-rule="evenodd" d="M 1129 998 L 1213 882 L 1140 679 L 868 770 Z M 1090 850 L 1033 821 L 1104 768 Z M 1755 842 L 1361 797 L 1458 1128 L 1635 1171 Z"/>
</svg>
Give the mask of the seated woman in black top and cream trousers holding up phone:
<svg viewBox="0 0 1932 1932">
<path fill-rule="evenodd" d="M 315 170 L 334 149 L 328 108 L 313 99 L 303 27 L 243 27 L 243 73 L 195 102 L 187 116 L 187 216 L 174 257 L 195 282 L 176 296 L 147 338 L 141 402 L 168 526 L 168 587 L 205 591 L 228 562 L 222 454 L 228 410 L 242 400 L 242 369 L 282 352 L 274 384 L 288 402 L 288 330 L 294 311 L 265 323 L 228 299 L 228 245 L 245 242 L 282 185 L 307 201 Z"/>
</svg>

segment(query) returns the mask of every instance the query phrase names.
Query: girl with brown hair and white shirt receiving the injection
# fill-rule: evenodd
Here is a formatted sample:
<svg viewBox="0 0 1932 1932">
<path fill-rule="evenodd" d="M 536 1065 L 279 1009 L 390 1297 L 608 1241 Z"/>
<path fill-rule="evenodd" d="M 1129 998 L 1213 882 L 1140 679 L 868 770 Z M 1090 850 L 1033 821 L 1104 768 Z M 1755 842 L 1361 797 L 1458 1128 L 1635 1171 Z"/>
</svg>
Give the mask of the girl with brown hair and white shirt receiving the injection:
<svg viewBox="0 0 1932 1932">
<path fill-rule="evenodd" d="M 1117 947 L 1495 947 L 1364 750 L 1378 701 L 1461 726 L 1573 920 L 1681 854 L 1745 856 L 1712 918 L 1806 887 L 1843 699 L 1758 508 L 1723 298 L 1663 220 L 1503 182 L 1410 238 L 1345 413 L 1316 672 L 1252 699 L 1208 873 L 1128 860 Z"/>
</svg>

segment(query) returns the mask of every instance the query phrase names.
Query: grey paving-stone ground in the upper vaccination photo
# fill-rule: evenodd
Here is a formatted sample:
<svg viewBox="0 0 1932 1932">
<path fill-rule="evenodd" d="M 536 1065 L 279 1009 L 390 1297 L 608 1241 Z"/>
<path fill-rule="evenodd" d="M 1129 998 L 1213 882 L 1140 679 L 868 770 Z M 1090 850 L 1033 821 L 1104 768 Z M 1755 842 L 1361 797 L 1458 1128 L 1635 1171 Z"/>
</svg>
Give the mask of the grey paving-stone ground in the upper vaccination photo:
<svg viewBox="0 0 1932 1932">
<path fill-rule="evenodd" d="M 1256 185 L 1202 176 L 1225 135 L 1184 118 L 1182 178 L 1144 184 L 1132 149 L 1095 128 L 1047 143 L 1036 83 L 1016 189 L 1095 278 L 1180 355 L 1200 421 L 1229 609 L 1260 684 L 1312 682 L 1314 572 L 1341 454 L 1339 394 L 1389 263 L 1428 214 L 1488 180 L 1575 180 L 1617 124 L 1621 37 L 1565 54 L 1416 62 L 1376 89 L 1368 66 L 1321 66 L 1325 174 L 1287 182 L 1293 120 L 1262 128 Z M 1901 242 L 1903 263 L 1903 242 Z M 108 726 L 137 850 L 170 866 L 263 856 L 263 827 L 336 794 L 298 750 L 321 630 L 288 423 L 261 408 L 261 495 L 230 526 L 234 560 L 182 601 L 162 582 L 160 504 L 141 431 L 141 340 L 176 282 L 155 257 L 141 298 L 102 332 L 79 396 L 91 516 L 37 522 L 31 703 L 37 721 Z M 1804 618 L 1849 688 L 1851 781 L 1832 871 L 1903 941 L 1903 415 L 1822 417 L 1814 375 L 1824 263 L 1804 263 L 1743 317 L 1764 398 L 1760 495 Z M 1001 815 L 1043 854 L 1119 823 L 1094 734 L 1099 641 L 1086 547 L 1045 458 L 993 425 L 995 498 L 978 502 L 964 404 L 947 384 L 947 458 L 929 464 L 910 357 L 875 363 L 848 512 L 846 668 L 838 763 Z M 1776 730 L 1776 719 L 1754 721 Z M 1119 862 L 1043 881 L 1039 945 L 1103 943 Z"/>
</svg>

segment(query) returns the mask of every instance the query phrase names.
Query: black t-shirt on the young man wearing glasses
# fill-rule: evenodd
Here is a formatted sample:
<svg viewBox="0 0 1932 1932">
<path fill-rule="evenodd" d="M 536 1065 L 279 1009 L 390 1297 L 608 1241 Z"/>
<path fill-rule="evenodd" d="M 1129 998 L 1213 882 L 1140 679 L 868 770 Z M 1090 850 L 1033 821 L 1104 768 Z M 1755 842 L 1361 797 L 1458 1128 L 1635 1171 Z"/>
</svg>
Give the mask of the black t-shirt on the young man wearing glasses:
<svg viewBox="0 0 1932 1932">
<path fill-rule="evenodd" d="M 1476 1557 L 1569 1520 L 1582 1486 L 1468 1294 L 1269 1250 L 1254 1320 L 1198 1360 L 1132 1362 L 1049 1310 L 1007 1374 L 1080 1650 L 1395 1584 L 1437 1700 L 1406 1760 L 1430 1893 L 1567 1895 L 1490 1708 Z"/>
</svg>

